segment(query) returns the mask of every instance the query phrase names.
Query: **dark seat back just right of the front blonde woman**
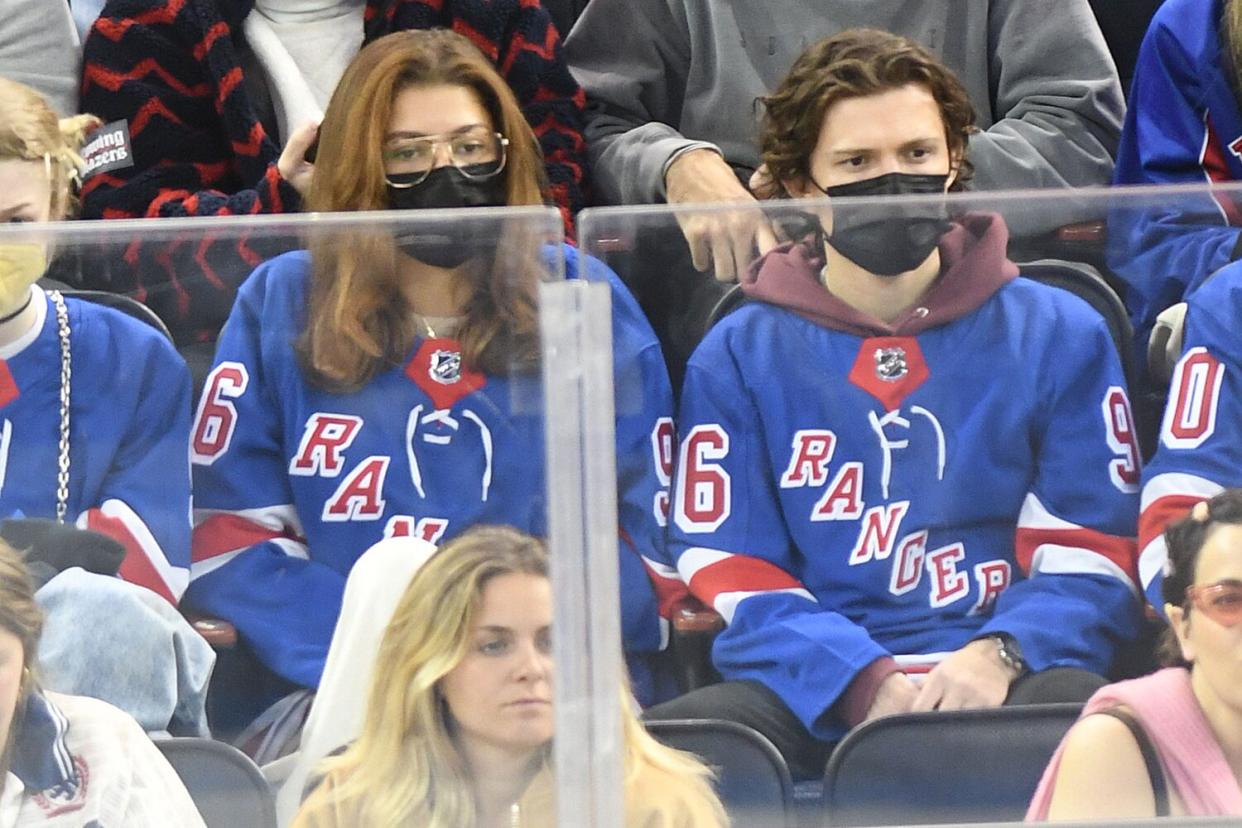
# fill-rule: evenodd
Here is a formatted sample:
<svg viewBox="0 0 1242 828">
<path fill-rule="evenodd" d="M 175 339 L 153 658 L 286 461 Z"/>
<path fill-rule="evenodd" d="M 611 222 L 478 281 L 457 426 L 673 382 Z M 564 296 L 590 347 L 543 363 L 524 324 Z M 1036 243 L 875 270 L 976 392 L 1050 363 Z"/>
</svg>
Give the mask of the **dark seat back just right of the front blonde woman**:
<svg viewBox="0 0 1242 828">
<path fill-rule="evenodd" d="M 663 744 L 699 756 L 715 772 L 733 828 L 792 828 L 794 783 L 785 760 L 759 732 L 733 721 L 648 721 Z"/>
</svg>

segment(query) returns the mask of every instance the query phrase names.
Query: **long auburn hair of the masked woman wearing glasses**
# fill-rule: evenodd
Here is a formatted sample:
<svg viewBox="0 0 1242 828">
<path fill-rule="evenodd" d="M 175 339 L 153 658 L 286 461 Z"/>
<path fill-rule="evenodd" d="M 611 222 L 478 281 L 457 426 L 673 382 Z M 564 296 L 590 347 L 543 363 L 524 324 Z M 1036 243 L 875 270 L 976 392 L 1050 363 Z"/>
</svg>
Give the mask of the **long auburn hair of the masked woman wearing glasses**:
<svg viewBox="0 0 1242 828">
<path fill-rule="evenodd" d="M 469 89 L 509 139 L 504 191 L 509 206 L 544 204 L 539 143 L 504 79 L 466 37 L 446 30 L 401 31 L 364 47 L 345 70 L 319 128 L 307 196 L 314 211 L 386 210 L 383 149 L 396 97 L 420 86 Z M 496 256 L 461 268 L 471 298 L 457 331 L 466 367 L 507 372 L 537 346 L 539 245 L 507 222 Z M 309 380 L 353 391 L 401 364 L 419 331 L 400 290 L 391 232 L 315 233 L 306 326 L 297 341 Z"/>
</svg>

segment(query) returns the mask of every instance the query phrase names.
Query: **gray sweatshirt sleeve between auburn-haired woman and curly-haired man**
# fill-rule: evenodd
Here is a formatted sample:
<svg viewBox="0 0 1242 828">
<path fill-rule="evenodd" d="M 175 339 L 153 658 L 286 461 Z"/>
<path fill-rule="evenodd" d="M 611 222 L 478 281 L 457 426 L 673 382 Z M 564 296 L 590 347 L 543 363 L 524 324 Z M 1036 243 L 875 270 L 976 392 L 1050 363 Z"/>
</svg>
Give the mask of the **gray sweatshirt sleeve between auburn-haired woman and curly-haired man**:
<svg viewBox="0 0 1242 828">
<path fill-rule="evenodd" d="M 664 0 L 591 0 L 565 41 L 586 91 L 586 148 L 605 204 L 664 200 L 664 166 L 694 146 L 678 132 L 689 36 Z"/>
</svg>

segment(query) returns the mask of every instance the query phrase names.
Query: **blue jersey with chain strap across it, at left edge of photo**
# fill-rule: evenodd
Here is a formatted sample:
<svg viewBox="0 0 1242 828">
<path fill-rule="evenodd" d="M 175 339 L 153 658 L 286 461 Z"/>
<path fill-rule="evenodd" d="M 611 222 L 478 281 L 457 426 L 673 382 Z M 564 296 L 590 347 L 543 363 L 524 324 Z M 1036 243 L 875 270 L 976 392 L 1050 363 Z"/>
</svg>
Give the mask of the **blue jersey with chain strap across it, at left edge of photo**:
<svg viewBox="0 0 1242 828">
<path fill-rule="evenodd" d="M 52 300 L 0 348 L 0 516 L 55 518 L 61 345 Z M 190 580 L 190 372 L 158 330 L 65 300 L 72 366 L 66 521 L 125 547 L 120 576 L 176 603 Z"/>
</svg>

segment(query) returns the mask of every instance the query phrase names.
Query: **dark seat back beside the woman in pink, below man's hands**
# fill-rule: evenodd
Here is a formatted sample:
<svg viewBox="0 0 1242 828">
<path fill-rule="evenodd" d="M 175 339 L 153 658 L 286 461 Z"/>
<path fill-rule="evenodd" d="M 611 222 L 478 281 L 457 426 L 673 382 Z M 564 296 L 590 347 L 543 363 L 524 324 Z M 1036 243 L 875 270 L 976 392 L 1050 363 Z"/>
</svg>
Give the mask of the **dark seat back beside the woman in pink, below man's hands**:
<svg viewBox="0 0 1242 828">
<path fill-rule="evenodd" d="M 828 760 L 823 824 L 1021 821 L 1081 709 L 909 713 L 861 725 Z"/>
</svg>

